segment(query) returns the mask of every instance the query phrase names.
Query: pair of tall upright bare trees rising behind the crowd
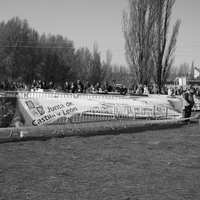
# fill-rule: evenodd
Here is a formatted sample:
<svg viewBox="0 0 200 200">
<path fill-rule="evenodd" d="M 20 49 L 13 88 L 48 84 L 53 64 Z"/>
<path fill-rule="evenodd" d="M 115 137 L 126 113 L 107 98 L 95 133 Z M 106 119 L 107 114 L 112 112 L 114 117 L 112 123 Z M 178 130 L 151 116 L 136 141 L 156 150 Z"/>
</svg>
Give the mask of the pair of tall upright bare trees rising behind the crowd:
<svg viewBox="0 0 200 200">
<path fill-rule="evenodd" d="M 135 82 L 146 84 L 153 75 L 161 91 L 170 75 L 180 20 L 168 41 L 172 7 L 175 0 L 129 0 L 123 14 L 125 56 Z M 152 73 L 153 72 L 153 73 Z"/>
</svg>

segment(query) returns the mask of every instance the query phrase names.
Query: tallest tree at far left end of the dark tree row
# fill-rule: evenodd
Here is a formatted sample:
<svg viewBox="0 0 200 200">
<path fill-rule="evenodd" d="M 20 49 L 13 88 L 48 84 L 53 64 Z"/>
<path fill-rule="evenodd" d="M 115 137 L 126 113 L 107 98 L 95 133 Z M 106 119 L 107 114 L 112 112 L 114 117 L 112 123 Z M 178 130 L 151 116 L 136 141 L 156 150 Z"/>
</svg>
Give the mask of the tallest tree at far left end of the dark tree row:
<svg viewBox="0 0 200 200">
<path fill-rule="evenodd" d="M 1 70 L 5 73 L 5 81 L 15 80 L 21 77 L 26 61 L 27 45 L 29 35 L 27 20 L 13 17 L 7 23 L 2 22 L 0 26 L 1 43 Z"/>
</svg>

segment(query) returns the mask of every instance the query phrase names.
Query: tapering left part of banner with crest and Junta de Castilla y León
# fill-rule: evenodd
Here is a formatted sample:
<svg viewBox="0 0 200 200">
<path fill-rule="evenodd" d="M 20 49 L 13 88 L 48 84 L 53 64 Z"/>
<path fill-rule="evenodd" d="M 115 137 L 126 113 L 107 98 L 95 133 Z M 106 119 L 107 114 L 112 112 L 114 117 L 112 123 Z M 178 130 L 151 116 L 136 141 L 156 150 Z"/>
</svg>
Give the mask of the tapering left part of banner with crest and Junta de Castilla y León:
<svg viewBox="0 0 200 200">
<path fill-rule="evenodd" d="M 50 124 L 61 117 L 71 117 L 76 113 L 98 107 L 99 103 L 87 99 L 74 98 L 30 98 L 19 99 L 20 111 L 25 125 L 39 126 Z"/>
</svg>

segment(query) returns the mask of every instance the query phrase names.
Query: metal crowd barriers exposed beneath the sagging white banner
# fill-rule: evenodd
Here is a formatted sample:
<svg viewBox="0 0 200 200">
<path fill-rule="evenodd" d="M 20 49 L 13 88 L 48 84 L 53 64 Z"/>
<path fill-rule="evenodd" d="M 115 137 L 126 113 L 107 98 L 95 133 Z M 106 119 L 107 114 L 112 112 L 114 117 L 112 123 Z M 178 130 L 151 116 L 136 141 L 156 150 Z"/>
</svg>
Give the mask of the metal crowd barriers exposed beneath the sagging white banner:
<svg viewBox="0 0 200 200">
<path fill-rule="evenodd" d="M 149 106 L 134 107 L 134 106 L 112 106 L 104 109 L 93 109 L 83 113 L 77 113 L 70 118 L 61 117 L 55 120 L 51 124 L 64 124 L 68 121 L 71 123 L 84 123 L 84 122 L 98 122 L 112 120 L 137 120 L 137 119 L 177 119 L 181 117 L 181 113 L 177 113 L 174 110 L 170 110 L 162 106 Z"/>
</svg>

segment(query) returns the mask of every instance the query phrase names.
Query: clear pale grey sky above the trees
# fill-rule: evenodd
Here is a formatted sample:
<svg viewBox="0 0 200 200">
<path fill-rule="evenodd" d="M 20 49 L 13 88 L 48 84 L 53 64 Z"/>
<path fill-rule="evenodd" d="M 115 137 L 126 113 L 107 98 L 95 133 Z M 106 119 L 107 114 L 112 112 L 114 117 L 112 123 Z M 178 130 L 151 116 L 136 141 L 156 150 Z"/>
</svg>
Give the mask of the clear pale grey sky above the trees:
<svg viewBox="0 0 200 200">
<path fill-rule="evenodd" d="M 0 22 L 18 16 L 40 35 L 62 35 L 74 42 L 75 48 L 93 50 L 97 42 L 102 60 L 112 52 L 112 64 L 127 65 L 125 60 L 122 13 L 127 0 L 0 0 Z M 200 0 L 176 0 L 170 22 L 170 33 L 181 20 L 175 66 L 183 63 L 200 68 Z"/>
</svg>

